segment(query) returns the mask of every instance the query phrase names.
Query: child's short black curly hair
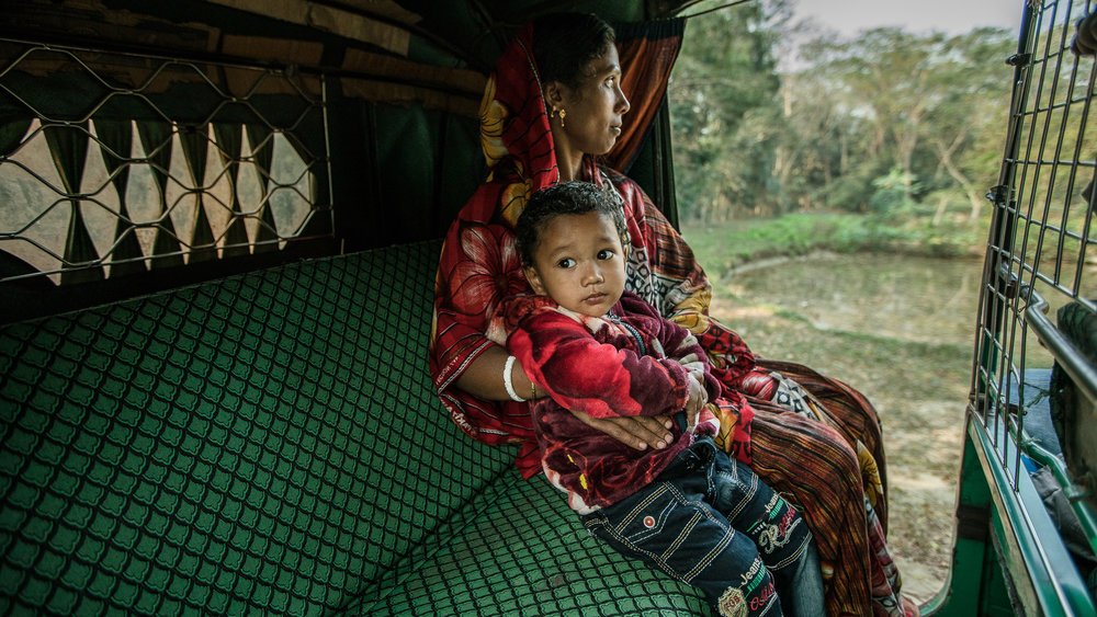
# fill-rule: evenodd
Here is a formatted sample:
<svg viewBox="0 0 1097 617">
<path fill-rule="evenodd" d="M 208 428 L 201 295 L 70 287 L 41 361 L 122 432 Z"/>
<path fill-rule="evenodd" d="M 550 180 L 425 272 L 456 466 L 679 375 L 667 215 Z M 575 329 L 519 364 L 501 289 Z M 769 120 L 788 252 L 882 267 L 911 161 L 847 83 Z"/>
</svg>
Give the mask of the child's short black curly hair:
<svg viewBox="0 0 1097 617">
<path fill-rule="evenodd" d="M 514 235 L 518 237 L 518 253 L 524 265 L 533 265 L 533 253 L 541 242 L 541 232 L 548 221 L 562 215 L 599 213 L 610 217 L 621 236 L 621 245 L 629 245 L 629 232 L 624 222 L 624 202 L 615 191 L 601 188 L 590 182 L 564 182 L 538 191 L 525 204 L 518 217 Z M 627 249 L 626 249 L 627 250 Z"/>
</svg>

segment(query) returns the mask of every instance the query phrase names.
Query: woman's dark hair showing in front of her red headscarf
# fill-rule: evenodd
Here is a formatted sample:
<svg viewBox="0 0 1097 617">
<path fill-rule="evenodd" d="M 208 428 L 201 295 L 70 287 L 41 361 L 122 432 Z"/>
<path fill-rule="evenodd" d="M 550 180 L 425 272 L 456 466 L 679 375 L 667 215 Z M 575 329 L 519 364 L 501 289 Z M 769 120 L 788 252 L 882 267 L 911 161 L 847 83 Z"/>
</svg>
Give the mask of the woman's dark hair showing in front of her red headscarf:
<svg viewBox="0 0 1097 617">
<path fill-rule="evenodd" d="M 533 60 L 541 84 L 578 88 L 590 60 L 602 57 L 617 34 L 593 13 L 551 13 L 533 21 Z"/>
</svg>

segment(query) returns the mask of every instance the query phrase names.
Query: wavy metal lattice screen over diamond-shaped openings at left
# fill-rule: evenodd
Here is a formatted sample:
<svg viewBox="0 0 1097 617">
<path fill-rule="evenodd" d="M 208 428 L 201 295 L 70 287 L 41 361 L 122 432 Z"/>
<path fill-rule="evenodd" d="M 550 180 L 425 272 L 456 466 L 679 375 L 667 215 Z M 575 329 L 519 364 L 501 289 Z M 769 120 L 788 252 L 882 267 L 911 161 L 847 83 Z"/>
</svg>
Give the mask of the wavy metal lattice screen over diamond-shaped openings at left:
<svg viewBox="0 0 1097 617">
<path fill-rule="evenodd" d="M 323 76 L 18 41 L 0 53 L 0 283 L 331 236 Z"/>
</svg>

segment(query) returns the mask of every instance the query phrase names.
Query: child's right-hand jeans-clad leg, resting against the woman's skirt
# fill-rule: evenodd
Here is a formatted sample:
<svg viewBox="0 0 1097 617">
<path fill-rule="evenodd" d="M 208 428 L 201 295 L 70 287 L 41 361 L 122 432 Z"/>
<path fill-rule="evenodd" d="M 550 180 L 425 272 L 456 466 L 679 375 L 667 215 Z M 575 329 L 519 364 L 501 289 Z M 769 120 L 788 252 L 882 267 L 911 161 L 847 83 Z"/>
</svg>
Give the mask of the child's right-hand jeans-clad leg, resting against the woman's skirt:
<svg viewBox="0 0 1097 617">
<path fill-rule="evenodd" d="M 716 450 L 714 501 L 732 526 L 754 539 L 785 615 L 824 615 L 823 574 L 807 522 L 746 465 Z"/>
</svg>

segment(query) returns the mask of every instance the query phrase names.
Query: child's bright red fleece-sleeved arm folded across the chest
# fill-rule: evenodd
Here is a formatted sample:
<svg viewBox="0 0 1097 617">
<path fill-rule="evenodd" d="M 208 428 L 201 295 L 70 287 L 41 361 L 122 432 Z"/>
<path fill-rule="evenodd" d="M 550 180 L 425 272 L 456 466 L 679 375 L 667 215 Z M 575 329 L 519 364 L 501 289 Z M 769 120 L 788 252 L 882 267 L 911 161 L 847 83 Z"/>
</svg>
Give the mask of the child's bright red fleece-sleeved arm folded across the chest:
<svg viewBox="0 0 1097 617">
<path fill-rule="evenodd" d="M 556 311 L 523 319 L 507 347 L 538 388 L 593 418 L 671 414 L 689 400 L 691 379 L 681 363 L 601 344 Z"/>
</svg>

